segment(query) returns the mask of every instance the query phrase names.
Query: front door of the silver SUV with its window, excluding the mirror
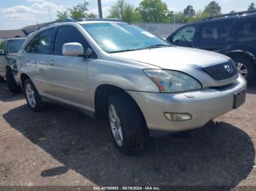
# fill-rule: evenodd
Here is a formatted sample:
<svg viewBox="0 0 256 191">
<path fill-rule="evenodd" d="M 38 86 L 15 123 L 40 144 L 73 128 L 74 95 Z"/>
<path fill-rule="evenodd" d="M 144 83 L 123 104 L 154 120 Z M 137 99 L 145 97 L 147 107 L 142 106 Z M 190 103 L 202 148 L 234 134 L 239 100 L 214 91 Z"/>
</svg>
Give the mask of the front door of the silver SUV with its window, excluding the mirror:
<svg viewBox="0 0 256 191">
<path fill-rule="evenodd" d="M 48 92 L 53 98 L 66 104 L 87 109 L 89 106 L 87 67 L 92 58 L 81 56 L 63 56 L 65 43 L 78 42 L 86 51 L 90 46 L 84 36 L 74 26 L 59 26 L 48 66 L 47 78 L 50 84 Z"/>
</svg>

